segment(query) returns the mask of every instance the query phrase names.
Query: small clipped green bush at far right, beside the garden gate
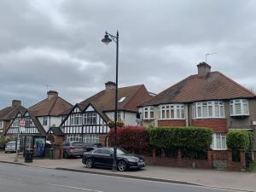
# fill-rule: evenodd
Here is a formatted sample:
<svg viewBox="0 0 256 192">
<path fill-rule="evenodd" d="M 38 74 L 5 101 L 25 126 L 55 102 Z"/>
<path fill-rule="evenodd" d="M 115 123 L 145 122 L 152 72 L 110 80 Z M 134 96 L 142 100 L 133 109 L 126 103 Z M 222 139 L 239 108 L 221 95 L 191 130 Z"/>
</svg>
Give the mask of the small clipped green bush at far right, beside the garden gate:
<svg viewBox="0 0 256 192">
<path fill-rule="evenodd" d="M 245 130 L 232 130 L 227 135 L 227 146 L 232 150 L 248 150 L 251 146 L 251 134 Z"/>
</svg>

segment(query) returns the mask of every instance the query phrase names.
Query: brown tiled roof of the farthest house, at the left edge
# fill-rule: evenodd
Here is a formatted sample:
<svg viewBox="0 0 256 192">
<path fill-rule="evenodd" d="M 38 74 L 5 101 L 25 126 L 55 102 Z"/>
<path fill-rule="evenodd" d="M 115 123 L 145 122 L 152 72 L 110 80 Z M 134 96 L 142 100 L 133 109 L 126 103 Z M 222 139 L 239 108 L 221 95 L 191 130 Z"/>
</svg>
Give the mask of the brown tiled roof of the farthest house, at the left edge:
<svg viewBox="0 0 256 192">
<path fill-rule="evenodd" d="M 24 114 L 26 112 L 26 108 L 21 105 L 11 106 L 7 108 L 3 108 L 0 111 L 0 120 L 10 120 L 14 119 L 17 113 Z"/>
</svg>

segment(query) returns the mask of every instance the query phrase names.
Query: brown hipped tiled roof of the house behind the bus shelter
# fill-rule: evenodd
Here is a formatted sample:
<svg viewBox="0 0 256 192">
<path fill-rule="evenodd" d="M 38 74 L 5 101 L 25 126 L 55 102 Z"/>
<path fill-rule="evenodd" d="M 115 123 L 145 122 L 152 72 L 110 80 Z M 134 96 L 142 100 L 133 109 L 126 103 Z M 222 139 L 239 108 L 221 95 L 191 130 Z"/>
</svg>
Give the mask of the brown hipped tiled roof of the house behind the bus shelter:
<svg viewBox="0 0 256 192">
<path fill-rule="evenodd" d="M 53 96 L 46 98 L 42 102 L 38 102 L 29 111 L 32 111 L 33 115 L 39 116 L 59 116 L 63 111 L 67 111 L 68 108 L 72 108 L 72 104 L 62 99 L 60 96 Z"/>
</svg>

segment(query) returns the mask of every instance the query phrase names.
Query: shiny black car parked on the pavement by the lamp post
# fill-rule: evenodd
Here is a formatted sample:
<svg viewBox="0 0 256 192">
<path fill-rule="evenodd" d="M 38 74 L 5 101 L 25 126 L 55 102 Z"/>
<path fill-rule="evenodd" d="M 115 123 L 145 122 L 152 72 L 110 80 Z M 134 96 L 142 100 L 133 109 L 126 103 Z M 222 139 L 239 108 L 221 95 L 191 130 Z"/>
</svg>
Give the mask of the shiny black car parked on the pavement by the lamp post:
<svg viewBox="0 0 256 192">
<path fill-rule="evenodd" d="M 82 162 L 88 168 L 93 166 L 111 168 L 113 166 L 113 148 L 96 148 L 90 152 L 85 152 Z M 124 150 L 117 148 L 117 168 L 119 171 L 140 169 L 144 166 L 146 164 L 142 156 L 127 154 Z"/>
</svg>

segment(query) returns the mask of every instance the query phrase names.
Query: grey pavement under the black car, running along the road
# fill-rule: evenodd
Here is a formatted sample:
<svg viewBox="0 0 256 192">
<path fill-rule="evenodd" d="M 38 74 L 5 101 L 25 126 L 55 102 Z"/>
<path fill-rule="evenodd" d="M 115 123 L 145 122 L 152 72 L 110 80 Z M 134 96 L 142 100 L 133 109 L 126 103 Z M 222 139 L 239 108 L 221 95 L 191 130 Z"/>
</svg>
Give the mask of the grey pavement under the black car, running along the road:
<svg viewBox="0 0 256 192">
<path fill-rule="evenodd" d="M 0 152 L 0 162 L 14 163 L 14 160 L 15 154 L 4 154 L 3 152 Z M 167 183 L 201 185 L 217 189 L 256 192 L 255 172 L 227 172 L 177 168 L 171 166 L 146 166 L 146 168 L 141 171 L 112 172 L 108 169 L 88 169 L 82 164 L 81 158 L 67 160 L 34 159 L 32 163 L 25 163 L 22 155 L 19 155 L 18 163 L 24 166 L 35 166 L 70 172 L 86 172 L 91 174 L 110 175 L 113 177 L 130 177 Z"/>
</svg>

